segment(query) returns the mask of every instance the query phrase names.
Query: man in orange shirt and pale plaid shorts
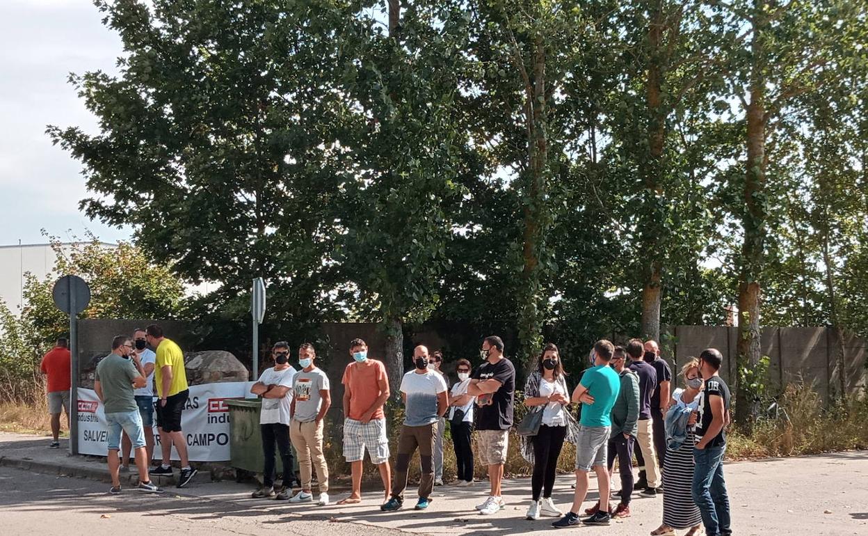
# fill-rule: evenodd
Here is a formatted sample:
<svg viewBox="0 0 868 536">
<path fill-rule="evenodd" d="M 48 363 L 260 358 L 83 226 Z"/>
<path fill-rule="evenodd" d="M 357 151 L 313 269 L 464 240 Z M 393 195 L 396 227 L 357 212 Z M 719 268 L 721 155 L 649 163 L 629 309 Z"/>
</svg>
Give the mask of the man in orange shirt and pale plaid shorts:
<svg viewBox="0 0 868 536">
<path fill-rule="evenodd" d="M 352 472 L 352 492 L 339 505 L 362 501 L 362 460 L 365 450 L 379 468 L 385 500 L 391 495 L 389 438 L 385 433 L 383 405 L 389 400 L 389 379 L 381 361 L 368 359 L 368 345 L 361 339 L 350 342 L 352 363 L 344 371 L 344 458 Z M 384 500 L 384 502 L 385 502 Z"/>
</svg>

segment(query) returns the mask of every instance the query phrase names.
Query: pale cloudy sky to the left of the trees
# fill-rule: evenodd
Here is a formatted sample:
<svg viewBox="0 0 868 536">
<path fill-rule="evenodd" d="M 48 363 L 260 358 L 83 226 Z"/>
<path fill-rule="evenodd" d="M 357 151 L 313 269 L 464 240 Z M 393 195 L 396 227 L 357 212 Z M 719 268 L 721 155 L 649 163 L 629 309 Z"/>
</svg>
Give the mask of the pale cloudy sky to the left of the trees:
<svg viewBox="0 0 868 536">
<path fill-rule="evenodd" d="M 97 132 L 67 82 L 70 72 L 114 73 L 121 40 L 89 0 L 0 0 L 0 246 L 66 241 L 93 232 L 127 240 L 78 210 L 88 197 L 80 162 L 53 146 L 46 125 Z"/>
</svg>

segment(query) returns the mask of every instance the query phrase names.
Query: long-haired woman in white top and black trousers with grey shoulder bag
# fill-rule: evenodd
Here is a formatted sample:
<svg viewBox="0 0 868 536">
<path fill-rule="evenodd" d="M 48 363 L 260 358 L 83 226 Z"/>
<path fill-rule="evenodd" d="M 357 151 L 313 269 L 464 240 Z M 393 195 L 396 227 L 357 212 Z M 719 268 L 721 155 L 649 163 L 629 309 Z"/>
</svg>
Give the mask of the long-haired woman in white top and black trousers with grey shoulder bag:
<svg viewBox="0 0 868 536">
<path fill-rule="evenodd" d="M 549 517 L 562 515 L 551 500 L 551 491 L 555 486 L 557 459 L 563 441 L 575 436 L 575 419 L 566 408 L 569 389 L 557 347 L 549 342 L 538 361 L 537 370 L 529 374 L 524 385 L 524 405 L 537 408 L 529 411 L 542 411 L 539 433 L 528 440 L 522 437 L 522 455 L 534 464 L 527 519 L 539 519 L 541 514 Z"/>
</svg>

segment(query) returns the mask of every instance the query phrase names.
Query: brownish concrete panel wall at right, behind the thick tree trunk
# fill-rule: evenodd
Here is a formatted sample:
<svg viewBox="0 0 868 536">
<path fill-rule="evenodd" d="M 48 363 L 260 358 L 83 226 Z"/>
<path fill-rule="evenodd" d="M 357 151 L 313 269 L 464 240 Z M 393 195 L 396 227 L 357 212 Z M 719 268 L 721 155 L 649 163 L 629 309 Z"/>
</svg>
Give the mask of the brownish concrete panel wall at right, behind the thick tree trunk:
<svg viewBox="0 0 868 536">
<path fill-rule="evenodd" d="M 707 347 L 715 347 L 724 356 L 721 374 L 727 382 L 735 377 L 738 328 L 713 326 L 672 326 L 665 328 L 672 337 L 670 361 L 676 367 L 695 357 Z M 774 390 L 788 383 L 811 384 L 825 399 L 841 391 L 838 349 L 844 349 L 845 390 L 858 392 L 865 387 L 865 359 L 868 341 L 854 334 L 844 334 L 838 341 L 831 328 L 764 328 L 760 347 L 769 357 L 769 380 Z"/>
</svg>

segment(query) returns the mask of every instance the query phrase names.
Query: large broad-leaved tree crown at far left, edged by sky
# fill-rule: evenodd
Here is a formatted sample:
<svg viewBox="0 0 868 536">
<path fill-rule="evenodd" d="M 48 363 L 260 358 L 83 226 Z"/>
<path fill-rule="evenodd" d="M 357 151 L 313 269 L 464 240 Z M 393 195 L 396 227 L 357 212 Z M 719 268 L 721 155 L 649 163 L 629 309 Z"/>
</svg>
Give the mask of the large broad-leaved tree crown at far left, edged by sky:
<svg viewBox="0 0 868 536">
<path fill-rule="evenodd" d="M 119 75 L 70 76 L 101 133 L 49 127 L 82 162 L 88 215 L 131 225 L 175 274 L 215 281 L 211 308 L 333 318 L 332 200 L 350 169 L 337 89 L 344 2 L 99 0 Z"/>
</svg>

